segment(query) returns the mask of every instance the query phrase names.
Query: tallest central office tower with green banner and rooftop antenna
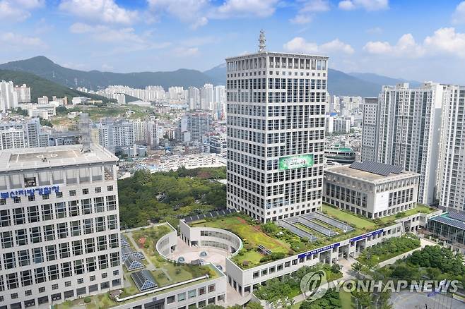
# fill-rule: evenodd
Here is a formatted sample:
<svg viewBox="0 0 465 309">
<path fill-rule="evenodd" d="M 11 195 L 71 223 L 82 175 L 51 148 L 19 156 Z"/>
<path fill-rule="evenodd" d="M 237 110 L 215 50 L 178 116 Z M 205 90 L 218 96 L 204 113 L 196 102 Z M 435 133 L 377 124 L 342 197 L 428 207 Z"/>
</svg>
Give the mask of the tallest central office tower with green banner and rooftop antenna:
<svg viewBox="0 0 465 309">
<path fill-rule="evenodd" d="M 269 222 L 322 203 L 326 56 L 259 52 L 227 63 L 227 205 Z"/>
</svg>

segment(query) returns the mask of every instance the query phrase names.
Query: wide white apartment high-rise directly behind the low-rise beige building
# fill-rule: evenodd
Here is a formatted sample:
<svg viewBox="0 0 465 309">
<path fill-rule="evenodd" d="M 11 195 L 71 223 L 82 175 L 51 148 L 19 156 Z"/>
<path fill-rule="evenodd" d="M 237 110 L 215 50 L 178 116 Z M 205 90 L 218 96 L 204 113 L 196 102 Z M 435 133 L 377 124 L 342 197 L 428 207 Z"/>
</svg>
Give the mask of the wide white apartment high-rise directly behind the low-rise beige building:
<svg viewBox="0 0 465 309">
<path fill-rule="evenodd" d="M 383 86 L 377 116 L 376 161 L 401 166 L 420 174 L 418 202 L 437 200 L 437 174 L 441 143 L 441 116 L 447 86 L 408 83 Z M 362 149 L 372 140 L 363 139 Z M 365 152 L 365 150 L 362 150 Z"/>
</svg>

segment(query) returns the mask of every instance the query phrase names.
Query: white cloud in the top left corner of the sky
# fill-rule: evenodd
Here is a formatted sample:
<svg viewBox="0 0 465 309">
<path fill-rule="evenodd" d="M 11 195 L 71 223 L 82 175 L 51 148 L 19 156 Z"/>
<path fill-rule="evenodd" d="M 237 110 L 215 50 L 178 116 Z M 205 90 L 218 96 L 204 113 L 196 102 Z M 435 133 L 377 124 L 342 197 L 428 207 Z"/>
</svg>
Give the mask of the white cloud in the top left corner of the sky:
<svg viewBox="0 0 465 309">
<path fill-rule="evenodd" d="M 1 21 L 20 22 L 30 17 L 30 11 L 39 8 L 45 3 L 44 0 L 1 0 L 0 1 L 0 23 Z"/>
</svg>

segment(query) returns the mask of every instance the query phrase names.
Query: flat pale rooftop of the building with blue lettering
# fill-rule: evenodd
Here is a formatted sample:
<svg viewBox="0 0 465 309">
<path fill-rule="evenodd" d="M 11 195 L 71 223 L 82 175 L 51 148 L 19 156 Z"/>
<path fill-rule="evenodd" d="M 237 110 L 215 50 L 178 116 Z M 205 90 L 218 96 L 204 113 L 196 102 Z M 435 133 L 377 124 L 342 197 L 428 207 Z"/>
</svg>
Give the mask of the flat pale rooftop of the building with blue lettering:
<svg viewBox="0 0 465 309">
<path fill-rule="evenodd" d="M 0 171 L 117 162 L 118 160 L 111 152 L 99 145 L 92 145 L 90 152 L 81 152 L 81 148 L 82 145 L 64 145 L 2 150 Z"/>
</svg>

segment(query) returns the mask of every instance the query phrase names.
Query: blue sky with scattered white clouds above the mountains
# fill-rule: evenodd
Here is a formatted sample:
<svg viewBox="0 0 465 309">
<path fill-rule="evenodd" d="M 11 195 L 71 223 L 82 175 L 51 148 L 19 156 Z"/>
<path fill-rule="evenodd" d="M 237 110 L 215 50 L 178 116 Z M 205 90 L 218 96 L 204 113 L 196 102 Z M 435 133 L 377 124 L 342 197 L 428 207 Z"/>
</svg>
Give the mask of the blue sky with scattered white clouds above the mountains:
<svg viewBox="0 0 465 309">
<path fill-rule="evenodd" d="M 465 1 L 0 0 L 0 63 L 44 55 L 80 70 L 204 71 L 257 49 L 330 67 L 465 84 Z"/>
</svg>

